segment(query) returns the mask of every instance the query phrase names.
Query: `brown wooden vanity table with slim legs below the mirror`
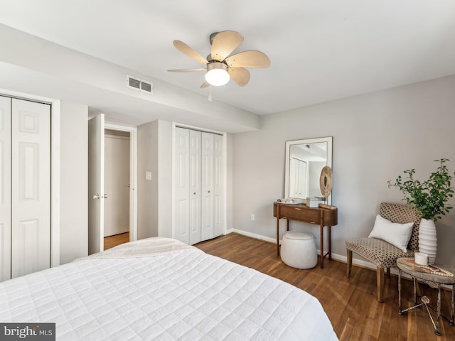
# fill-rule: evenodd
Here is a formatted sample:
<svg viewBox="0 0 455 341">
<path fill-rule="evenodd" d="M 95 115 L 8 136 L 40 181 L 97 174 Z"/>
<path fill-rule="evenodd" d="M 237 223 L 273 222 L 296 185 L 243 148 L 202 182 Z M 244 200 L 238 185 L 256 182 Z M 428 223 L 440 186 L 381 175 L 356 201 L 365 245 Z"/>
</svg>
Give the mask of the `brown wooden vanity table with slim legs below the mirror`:
<svg viewBox="0 0 455 341">
<path fill-rule="evenodd" d="M 338 224 L 338 209 L 333 210 L 321 207 L 308 207 L 305 204 L 283 204 L 274 202 L 273 215 L 277 217 L 277 255 L 279 256 L 279 220 L 284 218 L 287 220 L 287 231 L 289 231 L 289 220 L 298 222 L 308 222 L 321 227 L 321 268 L 324 267 L 324 258 L 328 255 L 328 259 L 332 259 L 332 244 L 331 244 L 331 227 Z M 324 254 L 324 230 L 327 227 L 328 232 L 328 252 Z"/>
</svg>

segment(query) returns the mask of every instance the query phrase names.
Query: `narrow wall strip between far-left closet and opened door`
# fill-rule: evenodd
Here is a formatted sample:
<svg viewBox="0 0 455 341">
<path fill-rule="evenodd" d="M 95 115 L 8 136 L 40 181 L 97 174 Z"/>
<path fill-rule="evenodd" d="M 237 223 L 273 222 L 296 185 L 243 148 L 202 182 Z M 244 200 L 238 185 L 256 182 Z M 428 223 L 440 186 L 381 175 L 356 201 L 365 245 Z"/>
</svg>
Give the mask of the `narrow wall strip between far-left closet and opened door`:
<svg viewBox="0 0 455 341">
<path fill-rule="evenodd" d="M 60 264 L 88 254 L 88 107 L 60 102 Z"/>
</svg>

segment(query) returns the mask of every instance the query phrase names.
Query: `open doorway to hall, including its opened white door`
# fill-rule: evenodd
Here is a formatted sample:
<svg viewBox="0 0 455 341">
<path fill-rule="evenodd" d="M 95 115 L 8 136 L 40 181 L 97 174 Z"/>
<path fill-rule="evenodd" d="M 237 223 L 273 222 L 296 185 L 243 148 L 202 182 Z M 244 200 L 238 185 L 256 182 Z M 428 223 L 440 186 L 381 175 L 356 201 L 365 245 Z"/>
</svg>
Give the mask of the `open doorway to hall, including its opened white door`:
<svg viewBox="0 0 455 341">
<path fill-rule="evenodd" d="M 137 240 L 136 188 L 137 128 L 90 119 L 89 254 L 105 249 L 105 237 Z"/>
</svg>

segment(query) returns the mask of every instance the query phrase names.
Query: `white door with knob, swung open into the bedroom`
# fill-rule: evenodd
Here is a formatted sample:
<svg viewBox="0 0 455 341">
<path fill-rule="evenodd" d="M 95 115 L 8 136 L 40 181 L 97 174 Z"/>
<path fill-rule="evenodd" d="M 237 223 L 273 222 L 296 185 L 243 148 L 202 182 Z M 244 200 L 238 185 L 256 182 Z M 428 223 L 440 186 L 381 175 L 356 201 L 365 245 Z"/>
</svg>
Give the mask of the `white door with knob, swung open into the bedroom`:
<svg viewBox="0 0 455 341">
<path fill-rule="evenodd" d="M 105 115 L 88 121 L 88 254 L 104 249 Z"/>
</svg>

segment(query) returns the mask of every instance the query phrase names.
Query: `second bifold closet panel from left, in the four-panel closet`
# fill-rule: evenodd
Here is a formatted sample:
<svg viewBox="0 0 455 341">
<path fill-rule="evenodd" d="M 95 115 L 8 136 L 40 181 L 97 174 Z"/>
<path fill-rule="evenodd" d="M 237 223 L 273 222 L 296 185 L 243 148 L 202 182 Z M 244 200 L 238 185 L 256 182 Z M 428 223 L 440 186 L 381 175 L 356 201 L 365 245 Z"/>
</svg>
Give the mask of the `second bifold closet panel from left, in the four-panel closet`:
<svg viewBox="0 0 455 341">
<path fill-rule="evenodd" d="M 201 241 L 200 237 L 200 131 L 190 130 L 189 141 L 189 223 L 190 245 Z"/>
</svg>

